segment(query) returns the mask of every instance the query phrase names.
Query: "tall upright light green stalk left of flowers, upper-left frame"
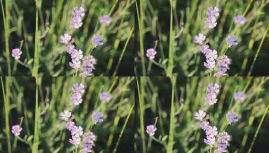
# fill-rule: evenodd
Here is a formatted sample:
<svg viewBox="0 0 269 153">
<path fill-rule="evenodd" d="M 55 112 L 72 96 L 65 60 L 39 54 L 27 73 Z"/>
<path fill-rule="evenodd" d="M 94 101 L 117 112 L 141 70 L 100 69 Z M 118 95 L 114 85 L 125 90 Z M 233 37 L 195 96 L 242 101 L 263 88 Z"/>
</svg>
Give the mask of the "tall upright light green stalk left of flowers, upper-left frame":
<svg viewBox="0 0 269 153">
<path fill-rule="evenodd" d="M 36 31 L 35 31 L 35 55 L 32 76 L 38 76 L 39 67 L 39 31 L 38 31 L 38 0 L 36 0 Z"/>
</svg>

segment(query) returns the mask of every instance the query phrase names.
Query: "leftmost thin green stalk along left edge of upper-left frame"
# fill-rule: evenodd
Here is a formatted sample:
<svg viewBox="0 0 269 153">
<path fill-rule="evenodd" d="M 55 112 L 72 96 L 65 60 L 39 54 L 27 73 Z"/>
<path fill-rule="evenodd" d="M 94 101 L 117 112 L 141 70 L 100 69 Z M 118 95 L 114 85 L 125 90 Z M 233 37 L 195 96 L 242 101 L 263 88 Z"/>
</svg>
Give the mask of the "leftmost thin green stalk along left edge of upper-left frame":
<svg viewBox="0 0 269 153">
<path fill-rule="evenodd" d="M 5 46 L 6 46 L 6 58 L 7 58 L 7 65 L 8 65 L 8 76 L 11 76 L 11 65 L 10 65 L 10 47 L 9 47 L 9 3 L 6 1 L 5 3 L 5 9 L 6 9 L 6 16 L 4 13 L 4 7 L 3 7 L 3 1 L 1 0 L 1 7 L 2 7 L 2 15 L 3 15 L 3 21 L 4 21 L 4 29 L 5 29 Z"/>
</svg>

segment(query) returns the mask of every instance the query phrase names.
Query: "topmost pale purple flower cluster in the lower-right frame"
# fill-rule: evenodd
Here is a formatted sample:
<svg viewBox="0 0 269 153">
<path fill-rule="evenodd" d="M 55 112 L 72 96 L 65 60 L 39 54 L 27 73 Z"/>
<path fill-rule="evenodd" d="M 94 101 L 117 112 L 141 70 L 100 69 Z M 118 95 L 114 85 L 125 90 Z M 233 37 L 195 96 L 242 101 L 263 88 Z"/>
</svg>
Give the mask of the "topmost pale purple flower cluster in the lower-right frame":
<svg viewBox="0 0 269 153">
<path fill-rule="evenodd" d="M 207 97 L 205 102 L 209 105 L 214 105 L 217 103 L 217 94 L 219 93 L 219 85 L 209 84 L 207 88 Z"/>
</svg>

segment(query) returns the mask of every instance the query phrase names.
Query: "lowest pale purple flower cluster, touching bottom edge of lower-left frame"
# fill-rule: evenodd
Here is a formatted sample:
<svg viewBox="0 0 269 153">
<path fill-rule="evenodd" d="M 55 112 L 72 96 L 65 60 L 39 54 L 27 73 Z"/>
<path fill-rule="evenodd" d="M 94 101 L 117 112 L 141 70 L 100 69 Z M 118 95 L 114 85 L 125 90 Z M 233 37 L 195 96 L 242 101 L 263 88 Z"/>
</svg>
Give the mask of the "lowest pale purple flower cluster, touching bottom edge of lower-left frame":
<svg viewBox="0 0 269 153">
<path fill-rule="evenodd" d="M 95 141 L 97 139 L 97 136 L 93 132 L 87 132 L 84 134 L 83 138 L 83 149 L 82 152 L 92 152 L 93 146 L 95 145 Z"/>
</svg>

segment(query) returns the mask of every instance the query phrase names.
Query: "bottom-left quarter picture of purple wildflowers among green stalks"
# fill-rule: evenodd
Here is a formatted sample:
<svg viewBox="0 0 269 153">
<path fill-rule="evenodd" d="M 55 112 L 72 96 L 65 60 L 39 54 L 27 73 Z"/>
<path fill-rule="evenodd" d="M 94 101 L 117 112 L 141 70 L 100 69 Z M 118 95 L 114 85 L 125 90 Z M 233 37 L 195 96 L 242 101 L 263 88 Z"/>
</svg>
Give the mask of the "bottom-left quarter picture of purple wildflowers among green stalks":
<svg viewBox="0 0 269 153">
<path fill-rule="evenodd" d="M 0 84 L 0 152 L 115 153 L 133 146 L 132 77 L 1 77 Z M 102 92 L 111 95 L 106 103 Z"/>
</svg>

